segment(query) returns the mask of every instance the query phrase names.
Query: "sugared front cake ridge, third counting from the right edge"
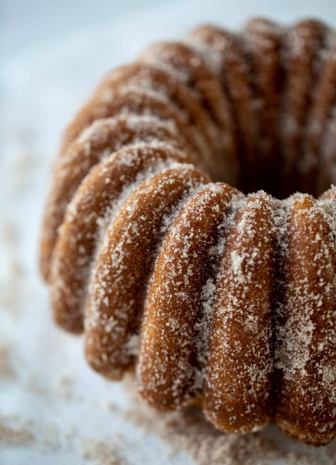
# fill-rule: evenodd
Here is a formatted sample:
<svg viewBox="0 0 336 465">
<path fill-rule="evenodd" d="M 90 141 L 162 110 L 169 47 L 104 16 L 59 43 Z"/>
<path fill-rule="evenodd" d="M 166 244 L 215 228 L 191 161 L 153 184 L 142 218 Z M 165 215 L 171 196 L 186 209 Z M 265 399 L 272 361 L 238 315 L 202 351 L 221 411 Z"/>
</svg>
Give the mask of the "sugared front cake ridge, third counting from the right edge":
<svg viewBox="0 0 336 465">
<path fill-rule="evenodd" d="M 138 364 L 141 394 L 153 406 L 177 408 L 203 391 L 207 289 L 215 280 L 215 248 L 225 214 L 236 198 L 229 185 L 207 185 L 181 208 L 162 243 L 147 295 Z"/>
</svg>

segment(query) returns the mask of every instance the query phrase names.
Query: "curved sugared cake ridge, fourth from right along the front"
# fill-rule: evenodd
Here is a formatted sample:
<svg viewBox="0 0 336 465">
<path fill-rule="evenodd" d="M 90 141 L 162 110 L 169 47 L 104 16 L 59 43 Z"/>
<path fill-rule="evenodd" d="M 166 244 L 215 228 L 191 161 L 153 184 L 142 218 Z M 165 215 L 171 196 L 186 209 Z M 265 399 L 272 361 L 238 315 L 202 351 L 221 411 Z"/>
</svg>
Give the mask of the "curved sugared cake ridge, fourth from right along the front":
<svg viewBox="0 0 336 465">
<path fill-rule="evenodd" d="M 133 334 L 133 328 L 136 332 L 136 328 L 140 325 L 146 282 L 150 277 L 155 251 L 162 238 L 161 228 L 164 226 L 162 222 L 166 221 L 169 212 L 173 212 L 175 207 L 183 202 L 189 190 L 192 191 L 198 184 L 207 180 L 208 178 L 201 171 L 192 166 L 186 168 L 181 166 L 178 170 L 175 168 L 159 173 L 151 183 L 143 183 L 140 189 L 130 196 L 122 207 L 123 214 L 119 214 L 108 229 L 105 247 L 103 246 L 97 258 L 91 280 L 86 316 L 91 318 L 92 312 L 96 313 L 96 309 L 99 309 L 97 316 L 102 324 L 90 325 L 86 328 L 86 357 L 96 369 L 109 377 L 114 376 L 115 372 L 118 377 L 118 372 L 123 367 L 129 367 L 133 362 L 125 352 L 124 344 L 128 336 Z M 159 202 L 157 196 L 152 195 L 153 191 L 169 193 L 164 205 Z M 147 198 L 148 203 L 142 205 L 139 202 L 140 198 Z M 145 212 L 150 205 L 149 202 L 153 207 L 149 212 L 150 219 L 147 219 L 148 213 Z M 133 217 L 135 221 L 132 224 L 122 222 L 122 216 Z M 140 251 L 144 247 L 148 253 L 145 256 L 138 254 L 135 260 L 130 252 Z M 137 290 L 139 286 L 140 290 Z M 123 311 L 126 307 L 129 310 Z M 108 331 L 106 323 L 116 326 L 115 331 Z M 108 338 L 109 344 L 98 345 L 99 341 L 97 341 L 95 346 L 92 345 L 89 340 L 100 339 L 101 332 L 103 338 Z M 101 367 L 105 362 L 106 352 L 108 364 L 106 367 Z"/>
</svg>

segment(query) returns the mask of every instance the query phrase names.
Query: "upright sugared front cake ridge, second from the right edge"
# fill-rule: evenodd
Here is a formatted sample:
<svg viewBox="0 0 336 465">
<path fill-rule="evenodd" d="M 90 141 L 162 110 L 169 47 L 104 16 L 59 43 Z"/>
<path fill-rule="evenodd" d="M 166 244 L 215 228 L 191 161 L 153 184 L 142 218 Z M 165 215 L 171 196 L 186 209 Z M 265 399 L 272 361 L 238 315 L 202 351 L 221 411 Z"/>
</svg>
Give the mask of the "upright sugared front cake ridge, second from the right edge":
<svg viewBox="0 0 336 465">
<path fill-rule="evenodd" d="M 235 207 L 218 269 L 204 408 L 220 429 L 247 432 L 271 418 L 275 212 L 264 193 Z"/>
</svg>

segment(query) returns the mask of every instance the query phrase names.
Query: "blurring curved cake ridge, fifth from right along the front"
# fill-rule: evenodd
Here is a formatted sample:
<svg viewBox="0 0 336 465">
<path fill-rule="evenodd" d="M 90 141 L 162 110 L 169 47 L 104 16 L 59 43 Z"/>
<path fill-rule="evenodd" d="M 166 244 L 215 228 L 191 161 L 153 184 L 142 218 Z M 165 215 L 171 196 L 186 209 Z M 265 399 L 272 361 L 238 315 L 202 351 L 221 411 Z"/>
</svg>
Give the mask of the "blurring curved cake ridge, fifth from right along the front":
<svg viewBox="0 0 336 465">
<path fill-rule="evenodd" d="M 118 214 L 130 193 L 156 173 L 174 166 L 183 167 L 184 165 L 177 163 L 178 159 L 182 161 L 183 154 L 177 149 L 169 149 L 167 144 L 140 142 L 104 159 L 84 178 L 67 206 L 62 231 L 53 252 L 51 300 L 59 324 L 72 331 L 78 326 L 78 331 L 82 331 L 81 307 L 84 302 L 81 304 L 79 301 L 84 300 L 87 294 L 89 270 L 94 263 L 99 239 L 103 239 L 108 224 Z M 141 166 L 140 160 L 145 166 Z M 117 166 L 120 166 L 119 172 Z M 116 183 L 113 186 L 116 177 L 120 177 L 122 189 Z M 104 185 L 108 187 L 108 195 L 99 195 Z M 94 210 L 92 201 L 95 203 Z M 67 240 L 69 236 L 73 238 L 71 242 Z M 71 257 L 70 262 L 68 257 Z M 77 323 L 69 319 L 70 315 L 78 313 L 79 316 L 75 318 Z M 67 316 L 67 320 L 62 323 L 60 316 L 63 314 Z"/>
</svg>

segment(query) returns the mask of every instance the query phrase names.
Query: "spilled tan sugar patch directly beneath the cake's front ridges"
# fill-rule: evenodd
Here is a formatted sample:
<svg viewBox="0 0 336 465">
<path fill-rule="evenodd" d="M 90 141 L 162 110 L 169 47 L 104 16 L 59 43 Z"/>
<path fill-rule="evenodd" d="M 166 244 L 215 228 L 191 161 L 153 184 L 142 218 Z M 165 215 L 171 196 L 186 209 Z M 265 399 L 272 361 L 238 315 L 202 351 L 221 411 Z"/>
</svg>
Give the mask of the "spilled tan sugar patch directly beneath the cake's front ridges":
<svg viewBox="0 0 336 465">
<path fill-rule="evenodd" d="M 172 454 L 184 451 L 197 465 L 335 465 L 336 444 L 318 449 L 286 437 L 276 425 L 249 435 L 225 434 L 196 408 L 162 413 L 148 408 L 125 379 L 130 408 L 124 418 L 167 442 Z M 172 462 L 173 463 L 173 462 Z"/>
</svg>

